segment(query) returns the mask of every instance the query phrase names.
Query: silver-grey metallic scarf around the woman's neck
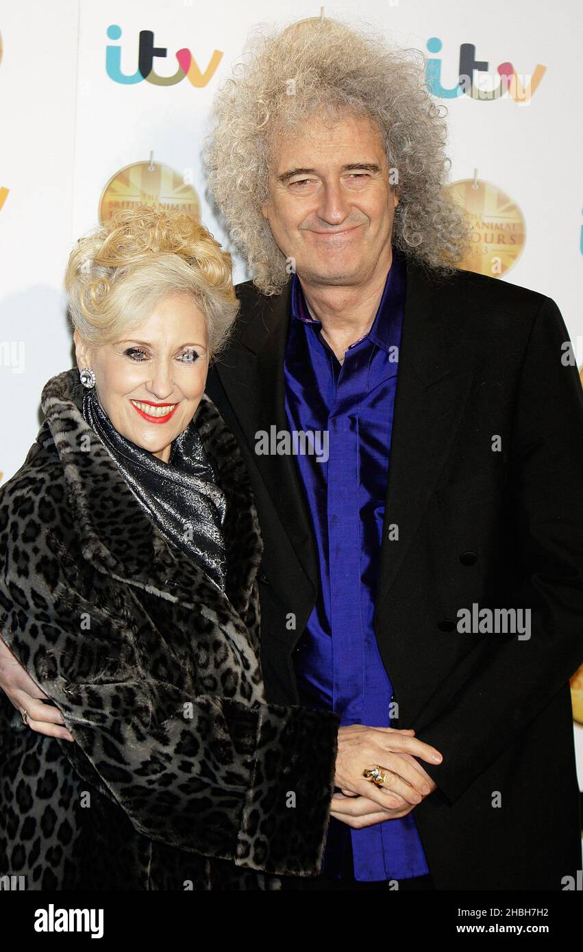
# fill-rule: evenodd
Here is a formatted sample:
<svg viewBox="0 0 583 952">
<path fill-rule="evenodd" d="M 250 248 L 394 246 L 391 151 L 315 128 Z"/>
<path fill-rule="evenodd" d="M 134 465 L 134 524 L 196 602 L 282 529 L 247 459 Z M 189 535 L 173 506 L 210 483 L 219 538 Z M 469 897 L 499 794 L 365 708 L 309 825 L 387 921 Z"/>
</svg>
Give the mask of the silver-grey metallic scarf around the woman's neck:
<svg viewBox="0 0 583 952">
<path fill-rule="evenodd" d="M 170 460 L 163 463 L 118 432 L 93 387 L 83 394 L 83 416 L 157 526 L 224 592 L 227 500 L 194 420 L 172 441 Z"/>
</svg>

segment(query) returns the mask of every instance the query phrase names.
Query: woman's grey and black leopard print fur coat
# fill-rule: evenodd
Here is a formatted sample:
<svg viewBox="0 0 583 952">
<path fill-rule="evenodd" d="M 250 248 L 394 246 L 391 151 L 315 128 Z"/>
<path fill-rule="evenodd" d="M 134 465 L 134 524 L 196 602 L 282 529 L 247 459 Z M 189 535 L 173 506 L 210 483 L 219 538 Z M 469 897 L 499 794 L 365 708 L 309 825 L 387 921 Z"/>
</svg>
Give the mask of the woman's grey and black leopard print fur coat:
<svg viewBox="0 0 583 952">
<path fill-rule="evenodd" d="M 227 497 L 227 590 L 161 534 L 70 369 L 0 489 L 0 634 L 75 743 L 0 692 L 0 875 L 33 890 L 282 889 L 320 872 L 335 714 L 266 701 L 262 543 L 236 440 L 196 425 Z"/>
</svg>

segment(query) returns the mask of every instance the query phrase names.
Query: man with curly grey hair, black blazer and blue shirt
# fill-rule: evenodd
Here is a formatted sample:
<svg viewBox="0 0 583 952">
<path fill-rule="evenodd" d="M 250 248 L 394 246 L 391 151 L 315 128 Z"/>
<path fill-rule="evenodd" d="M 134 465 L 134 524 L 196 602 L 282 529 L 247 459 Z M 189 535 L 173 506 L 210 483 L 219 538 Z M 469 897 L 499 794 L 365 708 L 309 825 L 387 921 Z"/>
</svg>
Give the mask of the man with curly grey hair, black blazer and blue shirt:
<svg viewBox="0 0 583 952">
<path fill-rule="evenodd" d="M 253 280 L 208 392 L 264 538 L 266 689 L 341 723 L 323 869 L 290 888 L 580 867 L 583 395 L 550 298 L 452 268 L 442 140 L 419 69 L 327 19 L 217 97 L 211 193 Z"/>
</svg>

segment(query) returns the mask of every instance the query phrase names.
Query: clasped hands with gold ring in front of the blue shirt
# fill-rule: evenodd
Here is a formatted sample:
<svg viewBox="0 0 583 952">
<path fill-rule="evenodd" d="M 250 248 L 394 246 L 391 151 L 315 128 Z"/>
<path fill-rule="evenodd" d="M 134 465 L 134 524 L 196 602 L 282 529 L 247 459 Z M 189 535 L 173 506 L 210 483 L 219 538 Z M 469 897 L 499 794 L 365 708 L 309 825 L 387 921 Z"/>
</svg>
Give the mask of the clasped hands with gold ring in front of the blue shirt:
<svg viewBox="0 0 583 952">
<path fill-rule="evenodd" d="M 342 790 L 332 798 L 331 815 L 355 828 L 406 816 L 429 796 L 436 784 L 416 757 L 438 764 L 435 747 L 413 737 L 414 730 L 352 724 L 338 730 L 334 783 Z M 362 776 L 375 764 L 387 775 L 384 787 Z"/>
</svg>

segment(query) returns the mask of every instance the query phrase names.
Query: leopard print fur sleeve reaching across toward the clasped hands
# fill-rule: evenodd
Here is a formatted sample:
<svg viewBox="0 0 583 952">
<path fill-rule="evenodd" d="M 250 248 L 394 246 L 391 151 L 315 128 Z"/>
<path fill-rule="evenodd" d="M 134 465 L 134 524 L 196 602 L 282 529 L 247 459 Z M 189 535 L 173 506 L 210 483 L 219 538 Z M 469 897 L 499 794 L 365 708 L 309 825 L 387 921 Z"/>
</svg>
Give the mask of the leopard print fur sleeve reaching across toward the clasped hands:
<svg viewBox="0 0 583 952">
<path fill-rule="evenodd" d="M 47 614 L 48 605 L 51 593 L 43 593 L 40 576 L 31 593 L 20 575 L 0 574 L 2 638 L 62 711 L 76 743 L 53 743 L 84 781 L 151 840 L 275 875 L 320 871 L 337 715 L 182 697 L 172 684 L 150 678 L 73 684 L 54 650 L 70 642 L 70 633 L 59 626 L 58 608 L 55 617 Z"/>
</svg>

